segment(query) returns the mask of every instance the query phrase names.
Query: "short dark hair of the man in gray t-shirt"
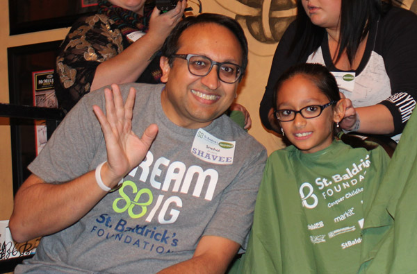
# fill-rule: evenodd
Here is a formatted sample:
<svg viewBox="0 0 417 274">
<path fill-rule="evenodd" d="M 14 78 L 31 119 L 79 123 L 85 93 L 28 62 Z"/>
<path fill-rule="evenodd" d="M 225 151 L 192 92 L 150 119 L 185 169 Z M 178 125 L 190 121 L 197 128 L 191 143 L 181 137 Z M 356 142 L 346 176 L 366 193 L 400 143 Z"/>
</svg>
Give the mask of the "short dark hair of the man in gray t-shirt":
<svg viewBox="0 0 417 274">
<path fill-rule="evenodd" d="M 245 33 L 243 32 L 242 27 L 236 22 L 235 19 L 231 17 L 227 17 L 225 15 L 218 15 L 215 13 L 202 13 L 198 16 L 188 16 L 183 19 L 181 22 L 174 27 L 170 35 L 168 35 L 167 39 L 163 43 L 162 46 L 162 55 L 170 58 L 172 55 L 176 54 L 179 49 L 179 37 L 183 31 L 185 31 L 190 26 L 194 26 L 197 24 L 218 24 L 220 26 L 224 26 L 228 28 L 231 33 L 233 33 L 236 39 L 239 41 L 240 47 L 242 48 L 242 74 L 240 78 L 243 77 L 245 74 L 246 66 L 247 66 L 247 40 L 245 37 Z M 198 37 L 196 37 L 198 39 Z M 172 64 L 172 59 L 170 58 L 170 64 Z"/>
</svg>

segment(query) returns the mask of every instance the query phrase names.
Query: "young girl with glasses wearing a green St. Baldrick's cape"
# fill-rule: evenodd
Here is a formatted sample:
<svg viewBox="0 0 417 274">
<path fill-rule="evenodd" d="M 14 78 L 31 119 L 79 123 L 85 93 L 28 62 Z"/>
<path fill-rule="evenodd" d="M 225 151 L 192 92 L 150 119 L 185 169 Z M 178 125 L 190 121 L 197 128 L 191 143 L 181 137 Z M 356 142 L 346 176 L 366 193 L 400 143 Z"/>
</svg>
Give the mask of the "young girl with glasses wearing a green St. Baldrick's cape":
<svg viewBox="0 0 417 274">
<path fill-rule="evenodd" d="M 389 157 L 335 138 L 345 103 L 322 65 L 297 65 L 279 79 L 275 117 L 292 145 L 268 158 L 243 273 L 358 271 L 363 217 Z"/>
</svg>

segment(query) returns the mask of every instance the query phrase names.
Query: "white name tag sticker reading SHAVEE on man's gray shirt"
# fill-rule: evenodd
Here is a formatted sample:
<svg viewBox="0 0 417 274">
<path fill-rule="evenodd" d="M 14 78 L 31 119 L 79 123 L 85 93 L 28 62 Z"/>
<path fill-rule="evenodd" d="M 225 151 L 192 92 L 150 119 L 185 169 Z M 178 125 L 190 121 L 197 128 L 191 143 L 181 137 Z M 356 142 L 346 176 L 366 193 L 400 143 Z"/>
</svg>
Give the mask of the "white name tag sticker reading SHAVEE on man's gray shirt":
<svg viewBox="0 0 417 274">
<path fill-rule="evenodd" d="M 224 141 L 214 137 L 202 128 L 197 130 L 191 153 L 212 164 L 233 164 L 236 141 Z"/>
</svg>

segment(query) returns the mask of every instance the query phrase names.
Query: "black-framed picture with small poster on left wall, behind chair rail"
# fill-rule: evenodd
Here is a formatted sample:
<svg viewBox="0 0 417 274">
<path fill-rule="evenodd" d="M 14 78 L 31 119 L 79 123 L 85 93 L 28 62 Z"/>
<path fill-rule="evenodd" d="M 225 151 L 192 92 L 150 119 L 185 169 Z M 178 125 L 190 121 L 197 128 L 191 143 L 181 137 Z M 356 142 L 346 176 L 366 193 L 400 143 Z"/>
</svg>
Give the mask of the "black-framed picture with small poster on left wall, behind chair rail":
<svg viewBox="0 0 417 274">
<path fill-rule="evenodd" d="M 53 41 L 8 48 L 10 105 L 22 106 L 22 112 L 29 111 L 28 107 L 23 108 L 23 106 L 40 106 L 43 108 L 37 108 L 36 111 L 44 109 L 47 111 L 46 117 L 63 118 L 63 112 L 54 108 L 57 106 L 56 99 L 52 99 L 53 71 L 61 42 Z M 40 147 L 38 143 L 42 132 L 39 132 L 39 128 L 36 127 L 39 126 L 39 120 L 31 119 L 31 117 L 45 116 L 44 114 L 20 115 L 20 113 L 17 115 L 29 118 L 10 118 L 14 193 L 30 175 L 26 166 L 35 159 Z M 50 120 L 46 122 L 47 127 L 48 121 Z"/>
</svg>

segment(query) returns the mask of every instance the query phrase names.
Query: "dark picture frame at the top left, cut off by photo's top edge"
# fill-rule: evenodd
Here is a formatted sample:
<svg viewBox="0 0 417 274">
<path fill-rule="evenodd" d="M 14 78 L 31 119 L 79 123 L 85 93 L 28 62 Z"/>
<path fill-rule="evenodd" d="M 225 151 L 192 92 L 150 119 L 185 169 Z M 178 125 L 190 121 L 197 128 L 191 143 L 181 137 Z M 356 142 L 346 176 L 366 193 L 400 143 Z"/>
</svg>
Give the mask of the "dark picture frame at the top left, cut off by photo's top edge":
<svg viewBox="0 0 417 274">
<path fill-rule="evenodd" d="M 97 11 L 97 0 L 9 0 L 10 35 L 71 26 Z"/>
</svg>

